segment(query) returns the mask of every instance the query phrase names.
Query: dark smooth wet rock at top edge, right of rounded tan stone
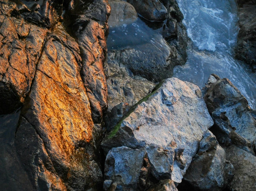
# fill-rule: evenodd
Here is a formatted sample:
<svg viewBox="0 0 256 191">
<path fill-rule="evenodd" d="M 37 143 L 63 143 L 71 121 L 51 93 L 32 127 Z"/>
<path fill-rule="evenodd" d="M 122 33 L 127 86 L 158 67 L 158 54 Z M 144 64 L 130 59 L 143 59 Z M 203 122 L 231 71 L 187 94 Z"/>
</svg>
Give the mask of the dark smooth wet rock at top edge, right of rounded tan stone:
<svg viewBox="0 0 256 191">
<path fill-rule="evenodd" d="M 159 0 L 127 0 L 127 2 L 149 21 L 164 21 L 167 17 L 167 9 Z"/>
</svg>

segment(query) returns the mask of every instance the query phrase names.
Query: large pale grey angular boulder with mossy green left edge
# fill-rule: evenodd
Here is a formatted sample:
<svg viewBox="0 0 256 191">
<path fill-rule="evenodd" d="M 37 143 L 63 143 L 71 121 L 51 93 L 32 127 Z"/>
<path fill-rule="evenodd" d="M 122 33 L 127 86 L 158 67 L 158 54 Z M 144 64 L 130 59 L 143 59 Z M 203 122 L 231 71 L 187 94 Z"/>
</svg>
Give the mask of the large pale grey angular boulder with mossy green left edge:
<svg viewBox="0 0 256 191">
<path fill-rule="evenodd" d="M 105 153 L 123 145 L 144 148 L 153 177 L 180 183 L 213 121 L 194 84 L 170 78 L 157 88 L 133 106 L 101 146 Z"/>
</svg>

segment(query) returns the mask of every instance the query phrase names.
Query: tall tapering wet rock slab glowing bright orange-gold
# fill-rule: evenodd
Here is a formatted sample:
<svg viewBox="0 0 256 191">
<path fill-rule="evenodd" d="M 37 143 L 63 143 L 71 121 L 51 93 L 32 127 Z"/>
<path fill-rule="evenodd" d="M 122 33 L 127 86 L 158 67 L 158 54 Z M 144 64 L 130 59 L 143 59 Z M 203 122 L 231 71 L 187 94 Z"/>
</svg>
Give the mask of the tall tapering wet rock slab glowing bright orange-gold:
<svg viewBox="0 0 256 191">
<path fill-rule="evenodd" d="M 56 187 L 63 181 L 68 190 L 94 188 L 102 179 L 97 164 L 99 155 L 95 156 L 98 135 L 80 77 L 80 61 L 78 44 L 59 26 L 45 43 L 31 91 L 21 110 L 21 121 L 27 125 L 20 123 L 17 131 L 18 137 L 26 137 L 33 127 L 42 142 L 37 148 L 39 153 L 31 144 L 17 144 L 21 158 L 28 163 L 26 168 L 42 166 L 42 177 L 49 176 L 50 171 L 52 179 L 56 176 L 60 181 L 47 181 Z M 27 153 L 37 160 L 36 167 L 27 161 Z M 44 157 L 40 157 L 42 154 Z M 33 177 L 38 177 L 38 172 Z"/>
</svg>

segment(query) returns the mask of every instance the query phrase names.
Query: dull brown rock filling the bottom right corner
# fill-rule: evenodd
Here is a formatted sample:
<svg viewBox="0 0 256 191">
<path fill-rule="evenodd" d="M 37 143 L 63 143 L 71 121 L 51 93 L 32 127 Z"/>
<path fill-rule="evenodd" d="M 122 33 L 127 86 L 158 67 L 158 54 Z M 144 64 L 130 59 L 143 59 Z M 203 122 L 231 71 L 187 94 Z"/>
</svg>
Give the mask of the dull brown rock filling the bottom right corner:
<svg viewBox="0 0 256 191">
<path fill-rule="evenodd" d="M 235 175 L 229 187 L 232 190 L 256 190 L 256 156 L 231 145 L 226 149 L 227 159 L 235 168 Z"/>
</svg>

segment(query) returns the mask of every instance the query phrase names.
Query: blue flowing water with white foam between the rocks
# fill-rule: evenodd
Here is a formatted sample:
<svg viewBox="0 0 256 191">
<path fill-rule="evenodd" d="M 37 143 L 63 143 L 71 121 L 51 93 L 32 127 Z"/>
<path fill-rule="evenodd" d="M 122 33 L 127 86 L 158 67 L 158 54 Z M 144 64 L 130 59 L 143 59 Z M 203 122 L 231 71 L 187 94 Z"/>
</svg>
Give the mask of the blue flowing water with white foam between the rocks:
<svg viewBox="0 0 256 191">
<path fill-rule="evenodd" d="M 237 5 L 234 0 L 177 0 L 192 43 L 184 66 L 174 77 L 204 87 L 211 73 L 228 78 L 256 109 L 256 73 L 233 58 L 237 41 Z"/>
</svg>

